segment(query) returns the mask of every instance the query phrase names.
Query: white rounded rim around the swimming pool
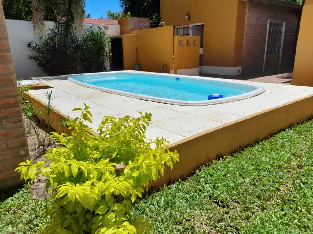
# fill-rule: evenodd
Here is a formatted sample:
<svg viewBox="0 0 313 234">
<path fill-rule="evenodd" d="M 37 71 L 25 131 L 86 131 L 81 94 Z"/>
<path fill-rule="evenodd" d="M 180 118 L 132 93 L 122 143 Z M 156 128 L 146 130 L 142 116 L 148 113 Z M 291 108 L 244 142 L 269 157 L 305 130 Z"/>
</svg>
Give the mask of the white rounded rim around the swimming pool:
<svg viewBox="0 0 313 234">
<path fill-rule="evenodd" d="M 159 97 L 154 97 L 154 96 L 148 96 L 148 95 L 141 95 L 141 94 L 134 94 L 134 93 L 129 93 L 129 92 L 124 92 L 124 91 L 119 91 L 119 90 L 113 90 L 113 89 L 108 89 L 108 88 L 103 88 L 99 87 L 96 85 L 90 85 L 84 82 L 77 81 L 69 76 L 73 75 L 85 75 L 85 74 L 90 74 L 90 75 L 100 75 L 100 74 L 114 74 L 114 73 L 134 73 L 134 74 L 147 74 L 147 75 L 160 75 L 160 76 L 174 76 L 174 77 L 181 77 L 181 78 L 188 78 L 188 79 L 197 79 L 197 80 L 208 80 L 208 81 L 215 81 L 215 82 L 221 82 L 221 83 L 228 83 L 228 84 L 236 84 L 236 85 L 243 85 L 242 82 L 237 82 L 237 81 L 225 81 L 224 79 L 221 80 L 219 78 L 211 78 L 211 77 L 199 77 L 199 76 L 186 76 L 186 75 L 176 75 L 176 74 L 168 74 L 168 73 L 156 73 L 156 72 L 146 72 L 146 71 L 132 71 L 132 70 L 126 70 L 126 71 L 108 71 L 108 72 L 94 72 L 94 73 L 84 73 L 84 74 L 71 74 L 71 75 L 66 75 L 68 78 L 67 80 L 95 90 L 100 90 L 103 92 L 111 93 L 111 94 L 117 94 L 117 95 L 122 95 L 126 97 L 131 97 L 131 98 L 136 98 L 136 99 L 141 99 L 141 100 L 147 100 L 147 101 L 154 101 L 154 102 L 160 102 L 160 103 L 166 103 L 166 104 L 172 104 L 172 105 L 182 105 L 182 106 L 204 106 L 204 105 L 213 105 L 213 104 L 221 104 L 221 103 L 226 103 L 226 102 L 233 102 L 233 101 L 238 101 L 238 100 L 243 100 L 247 99 L 250 97 L 257 96 L 263 92 L 265 92 L 265 88 L 260 85 L 254 85 L 254 84 L 244 84 L 244 86 L 250 86 L 256 88 L 256 90 L 250 91 L 245 94 L 241 95 L 236 95 L 232 97 L 225 97 L 221 99 L 213 99 L 213 100 L 203 100 L 203 101 L 184 101 L 184 100 L 175 100 L 175 99 L 167 99 L 167 98 L 159 98 Z"/>
</svg>

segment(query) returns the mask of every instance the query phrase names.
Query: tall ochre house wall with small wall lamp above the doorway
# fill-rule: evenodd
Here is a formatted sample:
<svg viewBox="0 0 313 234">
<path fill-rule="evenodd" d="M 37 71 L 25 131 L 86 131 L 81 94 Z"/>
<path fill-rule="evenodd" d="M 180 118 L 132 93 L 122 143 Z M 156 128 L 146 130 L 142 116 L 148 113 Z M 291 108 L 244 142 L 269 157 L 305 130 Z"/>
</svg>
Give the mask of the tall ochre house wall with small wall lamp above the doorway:
<svg viewBox="0 0 313 234">
<path fill-rule="evenodd" d="M 161 0 L 165 25 L 204 23 L 203 66 L 241 66 L 245 12 L 242 0 Z"/>
</svg>

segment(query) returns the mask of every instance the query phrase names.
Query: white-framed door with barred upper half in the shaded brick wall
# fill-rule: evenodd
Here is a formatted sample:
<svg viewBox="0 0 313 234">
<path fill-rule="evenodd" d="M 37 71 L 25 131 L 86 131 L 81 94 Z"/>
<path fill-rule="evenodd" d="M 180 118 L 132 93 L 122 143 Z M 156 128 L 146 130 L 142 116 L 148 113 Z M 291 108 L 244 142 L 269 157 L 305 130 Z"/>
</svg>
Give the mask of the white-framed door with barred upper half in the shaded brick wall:
<svg viewBox="0 0 313 234">
<path fill-rule="evenodd" d="M 280 69 L 285 22 L 268 21 L 263 72 Z"/>
</svg>

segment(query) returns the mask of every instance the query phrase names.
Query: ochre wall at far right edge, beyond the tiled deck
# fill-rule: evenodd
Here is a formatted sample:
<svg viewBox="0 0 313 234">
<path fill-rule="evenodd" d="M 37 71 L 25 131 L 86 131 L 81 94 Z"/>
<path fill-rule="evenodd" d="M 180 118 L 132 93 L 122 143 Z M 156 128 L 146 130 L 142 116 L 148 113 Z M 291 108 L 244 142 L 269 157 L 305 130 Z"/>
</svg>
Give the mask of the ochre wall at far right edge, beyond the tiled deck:
<svg viewBox="0 0 313 234">
<path fill-rule="evenodd" d="M 291 85 L 313 86 L 313 0 L 302 10 Z"/>
</svg>

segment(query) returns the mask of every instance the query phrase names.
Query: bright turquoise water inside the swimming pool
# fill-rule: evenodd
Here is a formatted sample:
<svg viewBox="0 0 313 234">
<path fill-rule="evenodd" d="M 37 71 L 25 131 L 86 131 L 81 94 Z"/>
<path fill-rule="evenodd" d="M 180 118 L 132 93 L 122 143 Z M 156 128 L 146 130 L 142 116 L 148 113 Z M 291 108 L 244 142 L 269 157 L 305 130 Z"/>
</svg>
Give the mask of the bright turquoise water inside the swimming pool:
<svg viewBox="0 0 313 234">
<path fill-rule="evenodd" d="M 177 76 L 140 73 L 106 72 L 102 74 L 72 75 L 70 78 L 105 89 L 182 101 L 208 100 L 208 95 L 216 93 L 223 95 L 223 97 L 231 97 L 249 93 L 256 89 L 249 85 L 223 84 L 223 82 L 201 79 L 177 79 Z"/>
</svg>

